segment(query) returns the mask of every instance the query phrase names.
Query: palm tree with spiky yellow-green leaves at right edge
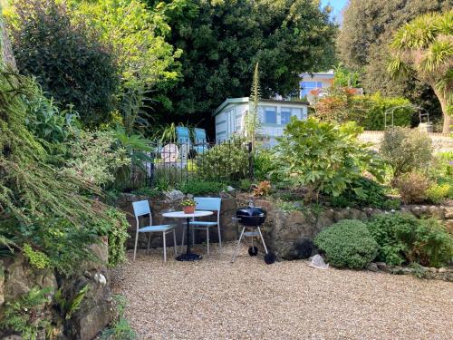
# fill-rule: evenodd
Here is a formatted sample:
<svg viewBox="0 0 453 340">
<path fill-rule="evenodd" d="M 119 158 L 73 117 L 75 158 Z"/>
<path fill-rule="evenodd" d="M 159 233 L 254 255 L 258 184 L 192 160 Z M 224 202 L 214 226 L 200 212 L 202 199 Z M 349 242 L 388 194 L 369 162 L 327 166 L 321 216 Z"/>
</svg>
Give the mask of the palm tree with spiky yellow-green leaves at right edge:
<svg viewBox="0 0 453 340">
<path fill-rule="evenodd" d="M 439 98 L 449 133 L 453 113 L 453 10 L 420 15 L 398 30 L 390 43 L 388 71 L 394 77 L 413 74 Z"/>
</svg>

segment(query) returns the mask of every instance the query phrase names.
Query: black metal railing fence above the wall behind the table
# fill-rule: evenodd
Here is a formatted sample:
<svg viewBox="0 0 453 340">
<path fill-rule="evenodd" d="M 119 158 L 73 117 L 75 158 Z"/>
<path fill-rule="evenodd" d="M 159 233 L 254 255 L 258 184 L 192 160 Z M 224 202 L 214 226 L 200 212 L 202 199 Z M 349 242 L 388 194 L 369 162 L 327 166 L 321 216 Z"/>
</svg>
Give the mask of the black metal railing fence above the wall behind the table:
<svg viewBox="0 0 453 340">
<path fill-rule="evenodd" d="M 233 182 L 253 178 L 252 143 L 207 141 L 149 143 L 134 157 L 128 189 L 169 188 L 188 180 Z"/>
</svg>

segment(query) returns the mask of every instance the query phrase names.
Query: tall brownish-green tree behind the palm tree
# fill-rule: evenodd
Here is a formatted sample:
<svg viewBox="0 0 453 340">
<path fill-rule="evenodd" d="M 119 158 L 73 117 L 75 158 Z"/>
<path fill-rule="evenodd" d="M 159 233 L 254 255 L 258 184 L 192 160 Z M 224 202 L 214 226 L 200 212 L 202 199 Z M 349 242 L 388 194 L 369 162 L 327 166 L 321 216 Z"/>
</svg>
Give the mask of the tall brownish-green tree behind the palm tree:
<svg viewBox="0 0 453 340">
<path fill-rule="evenodd" d="M 383 70 L 390 55 L 388 42 L 395 30 L 417 15 L 449 8 L 449 0 L 351 0 L 344 10 L 337 39 L 340 60 L 352 70 L 361 71 L 361 87 L 366 92 L 404 96 L 436 120 L 442 115 L 440 105 L 428 85 L 410 76 L 392 79 Z"/>
</svg>

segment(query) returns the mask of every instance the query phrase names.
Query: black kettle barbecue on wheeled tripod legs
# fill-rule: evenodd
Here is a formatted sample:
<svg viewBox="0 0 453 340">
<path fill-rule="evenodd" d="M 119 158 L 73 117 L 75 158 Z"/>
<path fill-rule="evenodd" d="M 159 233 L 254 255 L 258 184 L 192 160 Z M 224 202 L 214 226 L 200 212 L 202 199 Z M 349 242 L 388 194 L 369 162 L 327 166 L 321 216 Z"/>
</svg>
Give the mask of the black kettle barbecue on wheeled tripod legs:
<svg viewBox="0 0 453 340">
<path fill-rule="evenodd" d="M 235 253 L 231 258 L 231 262 L 235 262 L 237 251 L 239 250 L 241 240 L 244 237 L 251 238 L 252 245 L 248 248 L 248 255 L 251 257 L 258 255 L 258 248 L 254 246 L 254 238 L 260 238 L 265 248 L 265 263 L 270 265 L 275 262 L 275 255 L 272 252 L 267 251 L 267 247 L 265 247 L 265 238 L 263 238 L 263 234 L 260 229 L 260 226 L 265 223 L 265 216 L 266 212 L 264 209 L 254 207 L 252 204 L 249 207 L 236 210 L 236 217 L 233 219 L 236 219 L 237 222 L 243 226 L 243 228 L 241 236 L 237 241 Z"/>
</svg>

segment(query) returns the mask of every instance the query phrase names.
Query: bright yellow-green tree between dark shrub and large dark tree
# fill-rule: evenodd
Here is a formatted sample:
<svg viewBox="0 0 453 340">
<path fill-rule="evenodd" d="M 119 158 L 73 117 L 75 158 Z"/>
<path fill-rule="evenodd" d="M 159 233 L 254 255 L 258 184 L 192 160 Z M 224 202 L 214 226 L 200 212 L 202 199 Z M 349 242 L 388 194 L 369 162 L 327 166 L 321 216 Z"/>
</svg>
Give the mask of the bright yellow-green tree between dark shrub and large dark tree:
<svg viewBox="0 0 453 340">
<path fill-rule="evenodd" d="M 180 75 L 177 59 L 182 51 L 164 40 L 170 32 L 161 15 L 166 6 L 147 7 L 139 0 L 71 2 L 72 16 L 86 21 L 102 42 L 112 45 L 120 69 L 118 107 L 126 131 L 146 127 L 149 116 L 142 109 L 147 99 L 168 102 L 156 90 L 171 88 Z"/>
</svg>

